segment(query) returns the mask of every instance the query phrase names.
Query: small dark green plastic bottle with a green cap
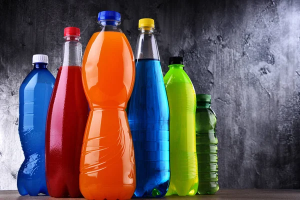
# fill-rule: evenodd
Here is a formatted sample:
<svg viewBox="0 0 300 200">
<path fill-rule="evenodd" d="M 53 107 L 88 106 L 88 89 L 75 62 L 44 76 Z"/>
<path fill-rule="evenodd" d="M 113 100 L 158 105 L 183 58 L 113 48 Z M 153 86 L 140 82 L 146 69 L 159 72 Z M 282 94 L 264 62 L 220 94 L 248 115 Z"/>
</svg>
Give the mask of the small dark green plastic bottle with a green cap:
<svg viewBox="0 0 300 200">
<path fill-rule="evenodd" d="M 196 150 L 198 158 L 199 194 L 214 194 L 217 183 L 216 116 L 210 108 L 209 94 L 197 94 Z"/>
</svg>

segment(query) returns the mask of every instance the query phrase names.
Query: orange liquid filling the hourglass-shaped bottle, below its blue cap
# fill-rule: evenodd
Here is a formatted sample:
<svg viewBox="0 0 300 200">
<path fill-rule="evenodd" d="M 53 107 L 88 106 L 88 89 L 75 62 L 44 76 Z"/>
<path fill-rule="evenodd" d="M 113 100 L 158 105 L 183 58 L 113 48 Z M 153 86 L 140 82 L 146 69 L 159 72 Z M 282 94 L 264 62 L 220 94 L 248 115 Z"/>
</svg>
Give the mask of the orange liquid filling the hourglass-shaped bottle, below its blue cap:
<svg viewBox="0 0 300 200">
<path fill-rule="evenodd" d="M 95 32 L 84 52 L 82 82 L 90 112 L 83 137 L 79 187 L 87 199 L 129 199 L 135 190 L 134 150 L 125 107 L 135 76 L 121 32 Z"/>
</svg>

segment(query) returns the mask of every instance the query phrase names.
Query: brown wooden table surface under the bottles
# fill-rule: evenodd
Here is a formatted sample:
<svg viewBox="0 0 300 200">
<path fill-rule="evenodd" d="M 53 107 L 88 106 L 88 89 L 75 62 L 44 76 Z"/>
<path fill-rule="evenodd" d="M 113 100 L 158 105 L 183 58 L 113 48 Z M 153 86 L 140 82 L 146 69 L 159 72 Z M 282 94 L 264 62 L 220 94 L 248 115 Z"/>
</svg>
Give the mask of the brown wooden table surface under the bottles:
<svg viewBox="0 0 300 200">
<path fill-rule="evenodd" d="M 53 198 L 45 195 L 41 196 L 20 196 L 16 190 L 0 190 L 0 199 L 49 199 L 57 200 L 59 198 Z M 84 198 L 62 198 L 67 199 L 84 199 Z M 148 198 L 149 199 L 149 198 Z M 300 190 L 291 189 L 220 189 L 214 195 L 194 195 L 194 196 L 167 196 L 160 199 L 164 200 L 176 200 L 176 199 L 205 199 L 205 200 L 223 200 L 223 199 L 299 199 Z"/>
</svg>

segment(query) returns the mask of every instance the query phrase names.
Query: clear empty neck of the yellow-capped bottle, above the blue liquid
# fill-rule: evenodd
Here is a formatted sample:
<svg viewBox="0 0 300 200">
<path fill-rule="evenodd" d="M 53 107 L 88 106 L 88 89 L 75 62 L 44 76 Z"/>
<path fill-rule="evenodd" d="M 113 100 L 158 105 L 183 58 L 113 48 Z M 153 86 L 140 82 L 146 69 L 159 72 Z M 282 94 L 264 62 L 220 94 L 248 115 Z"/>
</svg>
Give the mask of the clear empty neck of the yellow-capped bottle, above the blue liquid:
<svg viewBox="0 0 300 200">
<path fill-rule="evenodd" d="M 158 59 L 159 53 L 153 27 L 140 27 L 137 37 L 134 57 L 135 59 Z"/>
</svg>

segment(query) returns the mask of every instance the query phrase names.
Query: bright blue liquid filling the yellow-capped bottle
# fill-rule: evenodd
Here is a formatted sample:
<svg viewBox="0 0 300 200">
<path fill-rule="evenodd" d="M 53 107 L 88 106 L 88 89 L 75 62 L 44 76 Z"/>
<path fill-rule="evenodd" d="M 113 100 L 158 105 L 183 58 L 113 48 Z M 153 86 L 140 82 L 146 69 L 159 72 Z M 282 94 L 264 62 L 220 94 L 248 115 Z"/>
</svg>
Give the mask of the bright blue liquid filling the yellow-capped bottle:
<svg viewBox="0 0 300 200">
<path fill-rule="evenodd" d="M 135 82 L 127 113 L 132 134 L 136 189 L 134 197 L 161 197 L 167 192 L 169 107 L 159 60 L 135 60 Z"/>
</svg>

